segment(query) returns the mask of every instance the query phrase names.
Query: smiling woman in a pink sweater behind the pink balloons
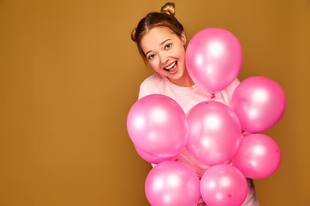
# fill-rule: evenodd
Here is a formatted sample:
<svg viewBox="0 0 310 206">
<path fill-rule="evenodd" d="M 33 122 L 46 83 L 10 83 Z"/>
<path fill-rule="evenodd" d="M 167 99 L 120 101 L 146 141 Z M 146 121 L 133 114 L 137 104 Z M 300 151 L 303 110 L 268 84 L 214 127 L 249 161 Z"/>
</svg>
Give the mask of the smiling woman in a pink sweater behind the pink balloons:
<svg viewBox="0 0 310 206">
<path fill-rule="evenodd" d="M 147 14 L 133 30 L 131 39 L 137 43 L 146 65 L 156 72 L 142 82 L 139 99 L 150 94 L 163 94 L 174 99 L 185 113 L 202 101 L 230 104 L 232 93 L 240 83 L 237 79 L 225 90 L 209 94 L 196 86 L 190 78 L 185 65 L 187 40 L 183 26 L 174 17 L 174 3 L 168 2 L 161 7 L 160 12 Z M 197 161 L 185 148 L 177 161 L 188 165 L 199 178 L 210 167 Z M 248 196 L 242 206 L 259 206 L 253 181 L 247 181 Z M 200 200 L 198 206 L 205 205 Z"/>
</svg>

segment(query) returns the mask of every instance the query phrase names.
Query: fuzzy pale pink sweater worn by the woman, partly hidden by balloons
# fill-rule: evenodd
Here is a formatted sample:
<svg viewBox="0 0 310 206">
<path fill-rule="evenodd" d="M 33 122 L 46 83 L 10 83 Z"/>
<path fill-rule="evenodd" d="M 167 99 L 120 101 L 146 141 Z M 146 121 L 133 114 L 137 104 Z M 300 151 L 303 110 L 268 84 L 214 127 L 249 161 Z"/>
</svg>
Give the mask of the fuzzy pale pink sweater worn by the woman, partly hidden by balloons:
<svg viewBox="0 0 310 206">
<path fill-rule="evenodd" d="M 226 89 L 219 93 L 215 93 L 213 96 L 196 86 L 196 84 L 193 86 L 179 86 L 170 82 L 167 77 L 155 73 L 141 83 L 138 98 L 140 99 L 150 94 L 163 94 L 174 99 L 182 107 L 184 112 L 187 113 L 194 105 L 202 101 L 213 100 L 229 106 L 232 93 L 239 83 L 239 80 L 236 79 Z M 204 172 L 210 167 L 197 161 L 185 148 L 178 156 L 177 161 L 188 165 L 199 178 L 201 178 Z M 252 179 L 247 179 L 247 181 L 249 188 L 248 196 L 242 206 L 259 206 L 253 181 Z M 202 202 L 202 200 L 200 202 Z"/>
</svg>

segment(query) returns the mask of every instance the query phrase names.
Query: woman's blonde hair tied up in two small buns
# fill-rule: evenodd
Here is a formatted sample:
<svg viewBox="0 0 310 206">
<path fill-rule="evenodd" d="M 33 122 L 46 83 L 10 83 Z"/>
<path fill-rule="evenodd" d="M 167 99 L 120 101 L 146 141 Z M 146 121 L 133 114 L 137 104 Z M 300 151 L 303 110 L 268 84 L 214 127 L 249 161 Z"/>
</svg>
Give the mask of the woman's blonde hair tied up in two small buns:
<svg viewBox="0 0 310 206">
<path fill-rule="evenodd" d="M 142 56 L 145 64 L 149 67 L 148 59 L 141 47 L 141 39 L 145 34 L 147 34 L 151 29 L 155 27 L 166 27 L 170 29 L 172 33 L 181 38 L 184 33 L 184 28 L 182 24 L 174 17 L 174 3 L 165 3 L 160 12 L 151 12 L 146 15 L 138 23 L 138 26 L 132 31 L 131 39 L 137 43 L 139 53 Z M 184 33 L 185 34 L 185 33 Z"/>
</svg>

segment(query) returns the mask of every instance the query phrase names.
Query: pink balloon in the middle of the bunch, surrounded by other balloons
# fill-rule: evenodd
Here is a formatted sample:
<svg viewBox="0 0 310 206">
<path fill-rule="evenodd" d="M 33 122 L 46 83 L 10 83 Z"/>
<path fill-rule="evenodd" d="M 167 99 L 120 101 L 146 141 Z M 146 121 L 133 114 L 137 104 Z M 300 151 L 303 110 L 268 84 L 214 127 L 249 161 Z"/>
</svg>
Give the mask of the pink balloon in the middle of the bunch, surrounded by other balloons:
<svg viewBox="0 0 310 206">
<path fill-rule="evenodd" d="M 223 164 L 238 150 L 242 130 L 237 115 L 227 105 L 205 101 L 187 113 L 186 149 L 206 165 Z"/>
</svg>

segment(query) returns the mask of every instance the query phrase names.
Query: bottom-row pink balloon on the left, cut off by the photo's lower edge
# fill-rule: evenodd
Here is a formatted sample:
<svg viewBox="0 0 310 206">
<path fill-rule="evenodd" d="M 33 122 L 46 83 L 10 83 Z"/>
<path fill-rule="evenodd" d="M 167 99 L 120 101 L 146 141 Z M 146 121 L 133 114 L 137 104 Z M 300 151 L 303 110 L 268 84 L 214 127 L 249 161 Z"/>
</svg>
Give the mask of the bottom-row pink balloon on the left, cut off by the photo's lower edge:
<svg viewBox="0 0 310 206">
<path fill-rule="evenodd" d="M 196 206 L 200 182 L 186 165 L 166 161 L 156 165 L 148 174 L 145 193 L 152 206 Z"/>
</svg>

